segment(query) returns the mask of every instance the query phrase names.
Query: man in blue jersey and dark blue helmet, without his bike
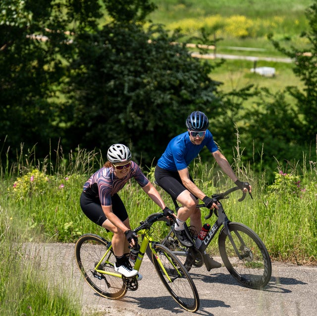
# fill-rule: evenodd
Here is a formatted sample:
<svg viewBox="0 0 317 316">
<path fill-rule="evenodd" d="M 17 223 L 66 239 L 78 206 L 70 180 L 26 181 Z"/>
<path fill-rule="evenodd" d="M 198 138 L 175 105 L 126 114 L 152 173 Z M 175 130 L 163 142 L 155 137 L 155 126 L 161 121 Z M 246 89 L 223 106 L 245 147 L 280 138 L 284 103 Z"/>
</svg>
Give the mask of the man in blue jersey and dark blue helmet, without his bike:
<svg viewBox="0 0 317 316">
<path fill-rule="evenodd" d="M 174 137 L 168 143 L 164 153 L 159 158 L 155 169 L 155 179 L 173 198 L 181 203 L 177 212 L 176 223 L 173 230 L 179 242 L 186 247 L 194 246 L 188 238 L 184 224 L 190 218 L 190 225 L 195 227 L 197 235 L 202 227 L 201 211 L 196 207 L 201 199 L 209 209 L 218 208 L 203 191 L 195 184 L 189 174 L 188 166 L 201 150 L 206 146 L 223 172 L 241 189 L 251 192 L 251 186 L 246 187 L 239 181 L 229 162 L 213 141 L 208 129 L 209 120 L 205 113 L 192 112 L 186 120 L 187 131 Z M 205 256 L 208 256 L 205 253 Z M 221 264 L 208 256 L 211 268 L 218 268 Z"/>
</svg>

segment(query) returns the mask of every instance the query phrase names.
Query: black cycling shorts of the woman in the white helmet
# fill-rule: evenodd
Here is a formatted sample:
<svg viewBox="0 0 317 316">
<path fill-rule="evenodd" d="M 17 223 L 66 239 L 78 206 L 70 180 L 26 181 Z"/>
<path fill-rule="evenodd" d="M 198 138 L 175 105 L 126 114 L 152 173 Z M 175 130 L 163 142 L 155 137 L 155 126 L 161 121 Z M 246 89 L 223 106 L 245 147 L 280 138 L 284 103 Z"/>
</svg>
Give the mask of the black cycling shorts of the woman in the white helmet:
<svg viewBox="0 0 317 316">
<path fill-rule="evenodd" d="M 125 221 L 128 218 L 128 213 L 120 196 L 117 193 L 113 194 L 111 201 L 112 212 L 118 216 L 122 222 Z M 85 215 L 99 226 L 102 226 L 107 219 L 102 209 L 99 196 L 91 197 L 91 195 L 82 192 L 80 196 L 80 207 Z"/>
</svg>

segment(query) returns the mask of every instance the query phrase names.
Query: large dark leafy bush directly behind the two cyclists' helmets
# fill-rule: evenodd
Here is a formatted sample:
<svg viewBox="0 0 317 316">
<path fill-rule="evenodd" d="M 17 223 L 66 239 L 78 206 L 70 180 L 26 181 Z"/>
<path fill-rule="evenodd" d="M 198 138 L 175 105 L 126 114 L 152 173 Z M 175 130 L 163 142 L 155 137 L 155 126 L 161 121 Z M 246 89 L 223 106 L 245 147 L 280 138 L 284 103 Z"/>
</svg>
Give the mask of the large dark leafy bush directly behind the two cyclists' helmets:
<svg viewBox="0 0 317 316">
<path fill-rule="evenodd" d="M 101 29 L 77 29 L 66 91 L 74 121 L 67 134 L 104 152 L 113 142 L 126 143 L 134 159 L 151 164 L 172 136 L 186 130 L 190 112 L 212 115 L 219 105 L 212 66 L 193 59 L 183 45 L 171 45 L 178 36 L 160 25 L 144 30 L 130 15 Z"/>
</svg>

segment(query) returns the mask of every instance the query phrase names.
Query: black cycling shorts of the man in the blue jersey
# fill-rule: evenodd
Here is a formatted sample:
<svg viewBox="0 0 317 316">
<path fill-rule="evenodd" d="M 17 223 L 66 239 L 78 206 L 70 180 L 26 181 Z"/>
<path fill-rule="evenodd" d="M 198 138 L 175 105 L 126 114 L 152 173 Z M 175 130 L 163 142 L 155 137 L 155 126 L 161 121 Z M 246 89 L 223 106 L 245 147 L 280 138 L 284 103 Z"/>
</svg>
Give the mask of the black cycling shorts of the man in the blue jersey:
<svg viewBox="0 0 317 316">
<path fill-rule="evenodd" d="M 178 171 L 169 171 L 156 166 L 154 176 L 157 184 L 174 199 L 176 199 L 181 192 L 187 190 L 180 179 Z M 191 176 L 189 176 L 189 179 L 194 183 Z M 196 196 L 195 198 L 197 199 Z"/>
</svg>

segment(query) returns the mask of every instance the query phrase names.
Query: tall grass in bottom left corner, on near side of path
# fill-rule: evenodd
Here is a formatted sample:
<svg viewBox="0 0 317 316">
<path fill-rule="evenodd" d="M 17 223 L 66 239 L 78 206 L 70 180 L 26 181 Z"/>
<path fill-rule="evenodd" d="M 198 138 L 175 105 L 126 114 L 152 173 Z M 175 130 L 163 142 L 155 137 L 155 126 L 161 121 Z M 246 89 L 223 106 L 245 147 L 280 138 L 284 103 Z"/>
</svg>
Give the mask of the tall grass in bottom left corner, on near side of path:
<svg viewBox="0 0 317 316">
<path fill-rule="evenodd" d="M 28 234 L 12 213 L 0 206 L 0 315 L 80 316 L 72 290 L 52 285 L 47 271 L 40 269 L 40 257 L 26 256 L 23 241 Z"/>
</svg>

